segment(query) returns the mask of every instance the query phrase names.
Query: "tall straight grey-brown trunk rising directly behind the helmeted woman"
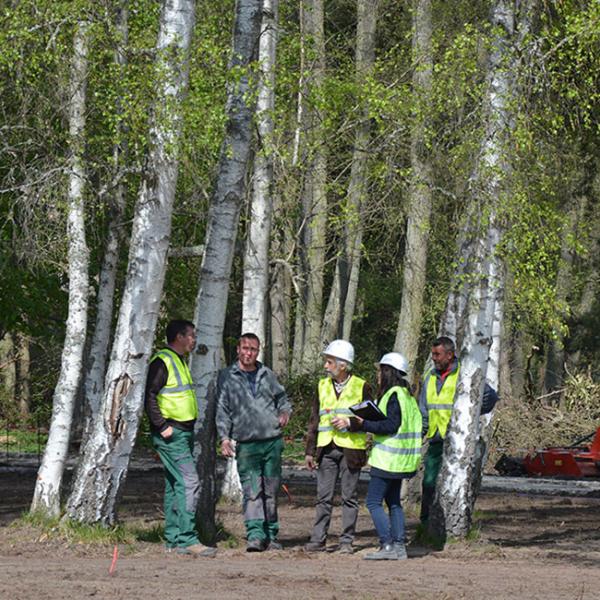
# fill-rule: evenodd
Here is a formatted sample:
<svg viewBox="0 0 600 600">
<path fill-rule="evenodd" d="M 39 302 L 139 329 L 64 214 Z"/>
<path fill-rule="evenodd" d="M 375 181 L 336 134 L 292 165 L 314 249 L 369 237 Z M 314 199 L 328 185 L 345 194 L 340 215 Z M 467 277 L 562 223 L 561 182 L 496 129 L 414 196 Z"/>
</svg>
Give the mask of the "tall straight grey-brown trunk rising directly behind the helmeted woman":
<svg viewBox="0 0 600 600">
<path fill-rule="evenodd" d="M 402 303 L 394 349 L 408 360 L 409 376 L 419 350 L 421 317 L 427 274 L 427 250 L 432 207 L 433 173 L 427 148 L 426 120 L 432 86 L 431 0 L 415 0 L 413 13 L 413 115 L 410 144 L 412 176 L 406 223 L 406 250 L 402 282 Z"/>
</svg>

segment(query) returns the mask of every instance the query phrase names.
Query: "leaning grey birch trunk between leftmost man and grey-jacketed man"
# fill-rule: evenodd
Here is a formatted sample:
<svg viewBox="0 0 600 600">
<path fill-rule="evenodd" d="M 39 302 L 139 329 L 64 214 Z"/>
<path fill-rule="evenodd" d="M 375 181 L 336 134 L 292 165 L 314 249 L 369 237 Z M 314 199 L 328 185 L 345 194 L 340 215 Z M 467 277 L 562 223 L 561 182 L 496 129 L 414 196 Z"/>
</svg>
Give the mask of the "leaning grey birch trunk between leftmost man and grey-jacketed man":
<svg viewBox="0 0 600 600">
<path fill-rule="evenodd" d="M 208 213 L 205 252 L 200 272 L 195 322 L 198 346 L 191 372 L 200 403 L 196 429 L 198 472 L 201 482 L 198 514 L 208 541 L 216 527 L 215 379 L 220 368 L 229 278 L 239 214 L 246 192 L 255 104 L 250 93 L 249 65 L 258 48 L 262 19 L 261 0 L 238 0 L 233 34 L 231 68 L 244 73 L 228 91 L 227 124 L 217 169 L 217 181 Z"/>
</svg>

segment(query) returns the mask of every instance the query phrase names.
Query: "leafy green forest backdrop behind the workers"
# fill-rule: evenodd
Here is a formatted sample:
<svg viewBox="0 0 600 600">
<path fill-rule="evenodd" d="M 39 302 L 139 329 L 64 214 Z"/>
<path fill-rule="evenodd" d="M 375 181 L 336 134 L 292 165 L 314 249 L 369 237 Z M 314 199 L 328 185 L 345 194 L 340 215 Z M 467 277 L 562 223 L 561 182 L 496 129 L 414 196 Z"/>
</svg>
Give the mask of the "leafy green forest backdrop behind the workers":
<svg viewBox="0 0 600 600">
<path fill-rule="evenodd" d="M 139 313 L 148 330 L 140 364 L 169 319 L 204 318 L 204 250 L 231 199 L 219 191 L 243 105 L 239 224 L 235 214 L 227 221 L 229 249 L 216 254 L 231 269 L 207 301 L 223 321 L 210 330 L 216 342 L 199 327 L 199 358 L 214 353 L 214 371 L 234 358 L 242 330 L 257 331 L 293 396 L 289 433 L 301 437 L 328 341 L 350 339 L 367 377 L 382 353 L 401 351 L 418 383 L 431 340 L 460 312 L 460 290 L 495 278 L 487 296 L 502 315 L 483 335 L 503 399 L 493 444 L 588 433 L 600 419 L 600 5 L 255 2 L 260 38 L 276 33 L 276 54 L 257 62 L 258 43 L 231 58 L 234 19 L 250 23 L 240 12 L 249 1 L 196 3 L 189 45 L 175 31 L 181 46 L 161 54 L 156 40 L 177 4 L 194 5 L 2 3 L 0 405 L 9 426 L 50 424 L 63 350 L 81 346 L 69 410 L 74 439 L 89 435 L 90 398 L 106 395 L 132 294 L 156 296 L 156 309 L 146 307 L 154 316 Z M 152 202 L 140 190 L 162 193 L 166 163 L 172 221 L 157 239 L 168 268 L 128 295 L 133 224 Z M 73 336 L 77 302 L 84 325 Z M 468 326 L 454 333 L 464 348 Z"/>
</svg>

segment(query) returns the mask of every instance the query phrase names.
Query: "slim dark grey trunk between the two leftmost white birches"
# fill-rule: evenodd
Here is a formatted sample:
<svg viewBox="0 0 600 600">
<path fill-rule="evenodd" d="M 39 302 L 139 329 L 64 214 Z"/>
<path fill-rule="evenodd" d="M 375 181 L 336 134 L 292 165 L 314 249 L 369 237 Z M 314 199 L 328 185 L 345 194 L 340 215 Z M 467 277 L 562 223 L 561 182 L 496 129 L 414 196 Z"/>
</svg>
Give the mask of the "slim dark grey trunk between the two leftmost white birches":
<svg viewBox="0 0 600 600">
<path fill-rule="evenodd" d="M 120 7 L 117 9 L 117 30 L 119 31 L 120 39 L 115 59 L 116 63 L 121 67 L 126 64 L 125 48 L 127 47 L 128 40 L 128 2 L 129 0 L 122 0 Z M 121 128 L 119 127 L 119 129 Z M 122 145 L 116 144 L 113 150 L 113 160 L 117 176 L 122 164 L 122 153 Z M 125 226 L 123 223 L 125 184 L 122 181 L 117 183 L 114 193 L 111 194 L 109 206 L 110 223 L 108 225 L 102 265 L 100 266 L 96 323 L 90 344 L 87 371 L 83 386 L 84 424 L 82 441 L 84 444 L 91 432 L 93 421 L 98 414 L 98 407 L 102 399 L 104 375 L 106 374 L 106 360 L 108 358 L 108 347 L 112 332 L 113 305 L 117 283 L 117 266 L 120 248 L 125 236 Z"/>
</svg>

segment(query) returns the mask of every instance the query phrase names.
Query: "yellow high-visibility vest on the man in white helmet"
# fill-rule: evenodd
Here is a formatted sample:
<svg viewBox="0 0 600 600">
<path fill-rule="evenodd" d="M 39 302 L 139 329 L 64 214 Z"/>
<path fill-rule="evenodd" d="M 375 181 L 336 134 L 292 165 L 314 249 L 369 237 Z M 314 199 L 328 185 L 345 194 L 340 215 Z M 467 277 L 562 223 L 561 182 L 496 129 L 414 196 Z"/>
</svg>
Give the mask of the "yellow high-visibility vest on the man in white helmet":
<svg viewBox="0 0 600 600">
<path fill-rule="evenodd" d="M 352 415 L 350 406 L 362 402 L 365 380 L 356 375 L 351 375 L 344 386 L 339 398 L 335 395 L 333 380 L 324 377 L 319 380 L 319 427 L 317 446 L 327 446 L 331 441 L 341 448 L 364 450 L 366 448 L 366 435 L 362 432 L 351 433 L 339 431 L 331 425 L 332 417 Z"/>
</svg>

